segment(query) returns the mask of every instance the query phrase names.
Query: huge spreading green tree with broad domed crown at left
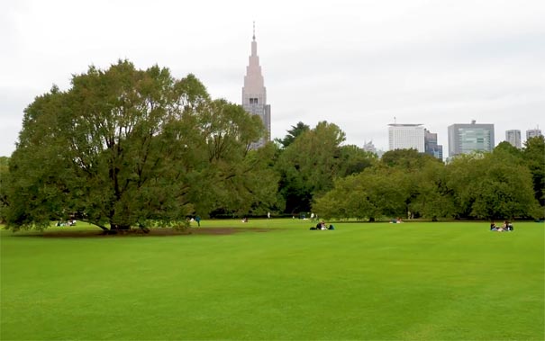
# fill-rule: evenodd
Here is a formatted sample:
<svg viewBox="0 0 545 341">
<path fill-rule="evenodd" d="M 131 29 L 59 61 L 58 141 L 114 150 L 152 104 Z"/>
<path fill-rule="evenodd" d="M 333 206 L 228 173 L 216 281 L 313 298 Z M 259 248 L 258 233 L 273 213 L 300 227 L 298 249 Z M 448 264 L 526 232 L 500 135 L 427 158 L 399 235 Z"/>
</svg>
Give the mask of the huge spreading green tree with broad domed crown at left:
<svg viewBox="0 0 545 341">
<path fill-rule="evenodd" d="M 126 60 L 90 67 L 67 92 L 54 86 L 25 110 L 6 220 L 12 229 L 45 228 L 75 214 L 104 230 L 129 229 L 236 206 L 257 184 L 230 182 L 256 168 L 246 158 L 263 133 L 259 118 L 212 101 L 195 76 L 177 80 Z"/>
</svg>

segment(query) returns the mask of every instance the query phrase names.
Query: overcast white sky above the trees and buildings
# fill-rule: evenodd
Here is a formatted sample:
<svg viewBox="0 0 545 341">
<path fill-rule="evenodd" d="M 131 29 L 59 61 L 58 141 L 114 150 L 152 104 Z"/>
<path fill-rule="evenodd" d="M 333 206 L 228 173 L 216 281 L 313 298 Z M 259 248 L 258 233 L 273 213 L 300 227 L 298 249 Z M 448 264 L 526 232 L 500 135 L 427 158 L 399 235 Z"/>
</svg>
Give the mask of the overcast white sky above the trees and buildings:
<svg viewBox="0 0 545 341">
<path fill-rule="evenodd" d="M 450 124 L 545 129 L 543 0 L 0 0 L 0 156 L 35 96 L 119 58 L 241 103 L 253 21 L 273 138 L 329 121 L 386 150 L 395 117 L 447 156 Z"/>
</svg>

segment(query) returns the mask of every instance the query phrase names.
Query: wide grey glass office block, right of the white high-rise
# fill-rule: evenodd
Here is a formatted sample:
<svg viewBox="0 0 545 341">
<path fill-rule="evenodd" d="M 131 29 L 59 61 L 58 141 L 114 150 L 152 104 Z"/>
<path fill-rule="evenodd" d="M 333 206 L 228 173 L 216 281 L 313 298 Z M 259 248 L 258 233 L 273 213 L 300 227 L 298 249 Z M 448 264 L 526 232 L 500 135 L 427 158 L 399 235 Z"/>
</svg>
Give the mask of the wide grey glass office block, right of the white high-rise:
<svg viewBox="0 0 545 341">
<path fill-rule="evenodd" d="M 494 149 L 494 124 L 452 124 L 449 126 L 449 157 Z"/>
</svg>

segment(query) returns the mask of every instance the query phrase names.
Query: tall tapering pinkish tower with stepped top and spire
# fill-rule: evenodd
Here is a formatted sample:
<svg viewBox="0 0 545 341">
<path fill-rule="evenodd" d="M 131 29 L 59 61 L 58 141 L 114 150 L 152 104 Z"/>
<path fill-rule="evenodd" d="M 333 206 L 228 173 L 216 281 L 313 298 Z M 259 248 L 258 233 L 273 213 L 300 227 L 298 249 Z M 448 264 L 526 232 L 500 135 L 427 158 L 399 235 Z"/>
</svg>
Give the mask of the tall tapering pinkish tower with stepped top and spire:
<svg viewBox="0 0 545 341">
<path fill-rule="evenodd" d="M 263 121 L 266 136 L 251 145 L 251 148 L 254 149 L 262 147 L 270 140 L 270 105 L 267 104 L 267 89 L 259 66 L 255 25 L 251 40 L 250 61 L 246 67 L 246 76 L 244 76 L 244 86 L 242 87 L 242 107 L 251 114 L 259 115 Z"/>
</svg>

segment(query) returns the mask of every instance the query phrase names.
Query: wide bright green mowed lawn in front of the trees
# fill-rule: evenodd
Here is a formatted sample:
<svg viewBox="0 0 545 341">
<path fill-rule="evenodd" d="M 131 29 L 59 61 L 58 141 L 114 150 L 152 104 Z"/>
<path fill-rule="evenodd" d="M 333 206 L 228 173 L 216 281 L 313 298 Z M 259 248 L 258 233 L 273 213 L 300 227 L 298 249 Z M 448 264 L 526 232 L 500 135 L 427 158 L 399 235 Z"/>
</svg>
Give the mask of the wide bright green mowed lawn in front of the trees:
<svg viewBox="0 0 545 341">
<path fill-rule="evenodd" d="M 92 238 L 2 230 L 0 338 L 545 337 L 543 223 L 504 233 L 486 222 L 201 225 L 271 230 Z"/>
</svg>

